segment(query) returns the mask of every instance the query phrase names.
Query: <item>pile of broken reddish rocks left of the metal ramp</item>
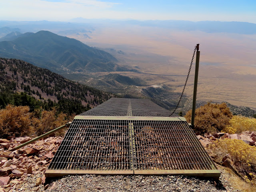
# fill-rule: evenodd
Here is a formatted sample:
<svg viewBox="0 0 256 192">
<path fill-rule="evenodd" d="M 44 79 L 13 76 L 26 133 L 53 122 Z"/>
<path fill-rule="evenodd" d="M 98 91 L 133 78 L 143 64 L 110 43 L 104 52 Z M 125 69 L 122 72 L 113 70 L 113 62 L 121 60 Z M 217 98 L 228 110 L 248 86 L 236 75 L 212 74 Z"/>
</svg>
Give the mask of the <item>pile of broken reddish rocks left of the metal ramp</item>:
<svg viewBox="0 0 256 192">
<path fill-rule="evenodd" d="M 9 140 L 8 140 L 9 139 Z M 49 166 L 59 144 L 60 137 L 38 140 L 14 152 L 14 148 L 31 138 L 0 139 L 0 192 L 42 191 L 44 172 Z"/>
</svg>

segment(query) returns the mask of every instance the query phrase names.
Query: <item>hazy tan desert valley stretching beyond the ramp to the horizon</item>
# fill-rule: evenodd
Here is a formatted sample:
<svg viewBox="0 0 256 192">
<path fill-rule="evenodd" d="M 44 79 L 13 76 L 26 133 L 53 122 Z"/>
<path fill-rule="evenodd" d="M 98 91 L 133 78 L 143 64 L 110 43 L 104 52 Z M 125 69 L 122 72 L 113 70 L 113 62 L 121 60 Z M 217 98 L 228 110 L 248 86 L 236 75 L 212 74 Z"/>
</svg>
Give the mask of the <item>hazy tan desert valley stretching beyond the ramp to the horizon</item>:
<svg viewBox="0 0 256 192">
<path fill-rule="evenodd" d="M 236 106 L 256 109 L 255 24 L 228 22 L 234 31 L 232 33 L 227 27 L 220 27 L 218 22 L 208 22 L 208 25 L 201 23 L 204 28 L 200 23 L 193 22 L 189 22 L 190 28 L 180 27 L 182 22 L 169 22 L 169 25 L 166 23 L 168 21 L 160 24 L 130 21 L 123 22 L 120 28 L 120 22 L 114 21 L 59 22 L 55 26 L 54 22 L 38 22 L 42 29 L 80 40 L 113 56 L 108 57 L 108 64 L 100 60 L 98 68 L 94 65 L 81 70 L 81 65 L 78 65 L 80 70 L 70 70 L 69 66 L 58 67 L 56 70 L 52 63 L 60 63 L 56 57 L 57 52 L 51 58 L 51 62 L 48 62 L 48 66 L 43 67 L 52 67 L 51 70 L 55 68 L 55 72 L 66 78 L 100 90 L 126 97 L 149 97 L 157 104 L 172 109 L 176 106 L 184 86 L 194 46 L 200 43 L 198 104 L 226 101 Z M 243 30 L 239 28 L 241 24 L 245 26 Z M 26 27 L 12 24 L 12 29 L 20 29 L 21 33 L 25 30 L 37 32 L 35 30 L 38 29 L 38 25 L 35 22 L 27 22 Z M 249 27 L 246 28 L 246 25 Z M 210 32 L 212 28 L 218 30 Z M 13 49 L 13 46 L 11 44 L 10 49 Z M 74 60 L 74 55 L 70 58 L 70 63 L 79 63 Z M 82 59 L 83 57 L 80 58 Z M 47 63 L 44 60 L 41 62 Z M 86 64 L 84 66 L 90 66 Z M 185 111 L 191 107 L 193 84 L 194 66 L 181 108 L 178 110 Z"/>
</svg>

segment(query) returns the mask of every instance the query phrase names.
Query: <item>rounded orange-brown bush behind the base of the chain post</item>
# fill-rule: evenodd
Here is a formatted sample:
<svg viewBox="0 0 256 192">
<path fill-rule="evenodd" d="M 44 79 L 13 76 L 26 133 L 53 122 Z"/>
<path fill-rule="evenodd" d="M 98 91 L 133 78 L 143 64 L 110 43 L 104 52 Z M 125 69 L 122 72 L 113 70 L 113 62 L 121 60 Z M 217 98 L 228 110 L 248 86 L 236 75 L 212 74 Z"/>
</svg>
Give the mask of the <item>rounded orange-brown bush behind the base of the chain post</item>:
<svg viewBox="0 0 256 192">
<path fill-rule="evenodd" d="M 191 114 L 192 110 L 185 115 L 188 122 L 191 122 Z M 232 112 L 230 112 L 226 103 L 211 104 L 208 102 L 196 109 L 195 131 L 200 134 L 220 132 L 230 125 L 229 120 L 232 116 Z"/>
</svg>

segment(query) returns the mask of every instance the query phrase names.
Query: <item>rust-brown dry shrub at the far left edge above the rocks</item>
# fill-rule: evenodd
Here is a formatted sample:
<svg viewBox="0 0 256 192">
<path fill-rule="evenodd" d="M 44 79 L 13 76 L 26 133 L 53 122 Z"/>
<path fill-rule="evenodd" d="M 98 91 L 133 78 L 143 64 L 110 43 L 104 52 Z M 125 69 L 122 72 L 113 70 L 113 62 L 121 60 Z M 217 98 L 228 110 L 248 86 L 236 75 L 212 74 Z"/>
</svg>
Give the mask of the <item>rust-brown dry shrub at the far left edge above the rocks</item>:
<svg viewBox="0 0 256 192">
<path fill-rule="evenodd" d="M 7 105 L 0 110 L 0 137 L 8 135 L 25 136 L 33 132 L 28 106 Z"/>
</svg>

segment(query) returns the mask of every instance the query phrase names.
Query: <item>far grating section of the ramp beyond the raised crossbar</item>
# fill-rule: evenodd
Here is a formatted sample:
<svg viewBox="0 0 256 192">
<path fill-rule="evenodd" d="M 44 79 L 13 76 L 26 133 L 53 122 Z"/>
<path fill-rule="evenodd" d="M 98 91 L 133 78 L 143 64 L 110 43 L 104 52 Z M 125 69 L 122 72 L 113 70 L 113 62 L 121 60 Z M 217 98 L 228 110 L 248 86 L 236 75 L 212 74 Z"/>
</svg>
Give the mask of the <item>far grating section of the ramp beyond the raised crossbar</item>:
<svg viewBox="0 0 256 192">
<path fill-rule="evenodd" d="M 80 115 L 168 117 L 171 114 L 170 111 L 148 99 L 111 98 Z M 178 115 L 174 114 L 172 116 Z"/>
</svg>

